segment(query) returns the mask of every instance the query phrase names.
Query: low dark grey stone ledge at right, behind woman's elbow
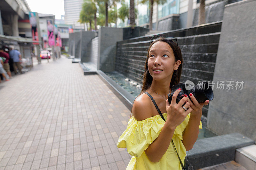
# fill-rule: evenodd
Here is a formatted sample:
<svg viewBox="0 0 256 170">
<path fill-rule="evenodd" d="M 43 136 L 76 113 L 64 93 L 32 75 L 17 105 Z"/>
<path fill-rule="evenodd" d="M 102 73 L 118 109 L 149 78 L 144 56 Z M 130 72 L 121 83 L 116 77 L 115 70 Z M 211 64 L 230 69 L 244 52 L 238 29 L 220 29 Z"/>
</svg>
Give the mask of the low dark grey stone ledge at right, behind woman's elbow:
<svg viewBox="0 0 256 170">
<path fill-rule="evenodd" d="M 240 133 L 199 139 L 187 152 L 189 162 L 195 169 L 235 160 L 237 148 L 253 145 L 254 141 Z"/>
</svg>

